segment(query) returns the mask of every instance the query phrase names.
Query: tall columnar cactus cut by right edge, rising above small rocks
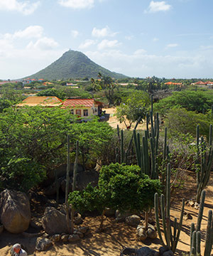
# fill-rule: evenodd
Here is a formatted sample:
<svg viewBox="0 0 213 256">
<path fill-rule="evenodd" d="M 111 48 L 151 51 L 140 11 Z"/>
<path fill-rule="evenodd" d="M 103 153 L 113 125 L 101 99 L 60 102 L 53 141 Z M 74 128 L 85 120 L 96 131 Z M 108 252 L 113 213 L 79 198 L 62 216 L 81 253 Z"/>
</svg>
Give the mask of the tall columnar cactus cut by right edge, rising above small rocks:
<svg viewBox="0 0 213 256">
<path fill-rule="evenodd" d="M 210 171 L 213 163 L 213 150 L 212 150 L 212 124 L 209 126 L 209 145 L 207 147 L 204 138 L 199 137 L 199 125 L 197 125 L 197 164 L 199 169 L 197 170 L 197 194 L 196 201 L 200 202 L 200 196 L 202 190 L 207 186 L 209 182 Z"/>
</svg>

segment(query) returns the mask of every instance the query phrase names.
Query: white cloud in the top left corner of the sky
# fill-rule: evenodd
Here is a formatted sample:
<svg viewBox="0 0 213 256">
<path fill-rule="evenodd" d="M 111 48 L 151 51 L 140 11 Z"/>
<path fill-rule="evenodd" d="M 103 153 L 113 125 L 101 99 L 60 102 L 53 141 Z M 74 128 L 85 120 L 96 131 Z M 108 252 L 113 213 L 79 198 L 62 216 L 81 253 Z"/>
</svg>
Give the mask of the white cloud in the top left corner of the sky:
<svg viewBox="0 0 213 256">
<path fill-rule="evenodd" d="M 0 11 L 18 11 L 22 14 L 29 15 L 33 14 L 39 4 L 40 1 L 30 3 L 30 1 L 0 0 Z"/>
</svg>

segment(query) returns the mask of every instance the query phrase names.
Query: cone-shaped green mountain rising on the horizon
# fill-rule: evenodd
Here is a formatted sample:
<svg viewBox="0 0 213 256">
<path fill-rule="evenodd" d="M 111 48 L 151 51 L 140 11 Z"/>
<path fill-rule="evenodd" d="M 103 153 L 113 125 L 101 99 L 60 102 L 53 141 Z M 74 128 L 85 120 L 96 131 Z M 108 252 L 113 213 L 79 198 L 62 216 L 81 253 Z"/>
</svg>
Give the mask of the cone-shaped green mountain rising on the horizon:
<svg viewBox="0 0 213 256">
<path fill-rule="evenodd" d="M 29 78 L 43 78 L 45 80 L 58 80 L 67 78 L 97 78 L 98 73 L 109 75 L 111 78 L 126 78 L 126 75 L 111 72 L 90 60 L 84 53 L 77 50 L 68 50 L 62 57 L 38 71 Z"/>
</svg>

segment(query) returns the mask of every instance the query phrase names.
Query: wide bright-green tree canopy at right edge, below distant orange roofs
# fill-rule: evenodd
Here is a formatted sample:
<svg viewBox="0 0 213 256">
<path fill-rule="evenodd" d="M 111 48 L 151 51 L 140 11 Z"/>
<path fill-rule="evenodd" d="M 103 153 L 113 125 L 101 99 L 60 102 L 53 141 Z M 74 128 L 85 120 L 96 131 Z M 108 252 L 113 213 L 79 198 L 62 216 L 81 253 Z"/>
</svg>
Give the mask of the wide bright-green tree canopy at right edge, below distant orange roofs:
<svg viewBox="0 0 213 256">
<path fill-rule="evenodd" d="M 188 111 L 205 113 L 211 109 L 212 104 L 212 95 L 209 92 L 184 90 L 182 92 L 173 92 L 172 96 L 155 103 L 154 110 L 165 116 L 167 116 L 170 109 L 177 109 L 179 107 L 185 108 Z"/>
</svg>

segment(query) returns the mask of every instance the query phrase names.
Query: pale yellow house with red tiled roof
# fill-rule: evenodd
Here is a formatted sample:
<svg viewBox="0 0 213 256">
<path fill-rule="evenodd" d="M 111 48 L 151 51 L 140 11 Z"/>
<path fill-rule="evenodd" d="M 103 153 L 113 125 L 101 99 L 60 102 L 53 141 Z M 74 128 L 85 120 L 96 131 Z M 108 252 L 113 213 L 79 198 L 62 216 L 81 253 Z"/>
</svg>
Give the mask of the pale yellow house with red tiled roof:
<svg viewBox="0 0 213 256">
<path fill-rule="evenodd" d="M 78 117 L 100 116 L 103 103 L 94 99 L 67 99 L 62 103 L 63 107 L 70 107 L 72 114 Z"/>
</svg>

